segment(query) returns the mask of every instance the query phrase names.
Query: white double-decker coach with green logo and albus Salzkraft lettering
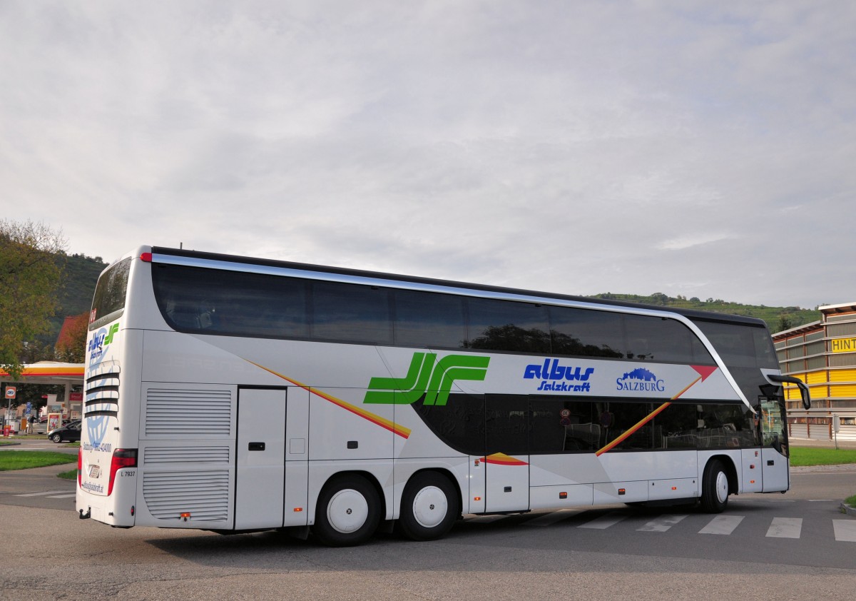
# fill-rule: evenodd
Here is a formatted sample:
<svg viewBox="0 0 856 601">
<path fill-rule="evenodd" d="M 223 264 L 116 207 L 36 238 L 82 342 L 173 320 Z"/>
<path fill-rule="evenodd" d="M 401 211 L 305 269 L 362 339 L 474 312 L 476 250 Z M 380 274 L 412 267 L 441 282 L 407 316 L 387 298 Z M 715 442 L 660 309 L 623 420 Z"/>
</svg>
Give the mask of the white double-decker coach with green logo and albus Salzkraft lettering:
<svg viewBox="0 0 856 601">
<path fill-rule="evenodd" d="M 140 247 L 89 330 L 76 503 L 113 527 L 348 545 L 788 490 L 758 319 Z"/>
</svg>

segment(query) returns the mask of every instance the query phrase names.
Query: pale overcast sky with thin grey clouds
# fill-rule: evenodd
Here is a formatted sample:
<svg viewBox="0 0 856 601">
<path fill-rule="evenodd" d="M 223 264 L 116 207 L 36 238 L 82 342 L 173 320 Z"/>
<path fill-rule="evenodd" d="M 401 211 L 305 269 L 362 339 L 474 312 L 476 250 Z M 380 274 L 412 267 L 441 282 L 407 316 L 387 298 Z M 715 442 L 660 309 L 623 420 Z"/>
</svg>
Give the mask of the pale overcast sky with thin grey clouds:
<svg viewBox="0 0 856 601">
<path fill-rule="evenodd" d="M 572 295 L 856 301 L 856 3 L 0 0 L 0 208 Z"/>
</svg>

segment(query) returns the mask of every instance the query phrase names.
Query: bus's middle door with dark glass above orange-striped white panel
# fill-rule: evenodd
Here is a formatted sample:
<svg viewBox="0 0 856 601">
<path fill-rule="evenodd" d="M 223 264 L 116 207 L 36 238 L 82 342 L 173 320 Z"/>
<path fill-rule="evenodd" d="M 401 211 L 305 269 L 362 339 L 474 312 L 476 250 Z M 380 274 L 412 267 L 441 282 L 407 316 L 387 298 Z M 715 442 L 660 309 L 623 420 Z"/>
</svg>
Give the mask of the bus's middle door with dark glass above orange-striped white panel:
<svg viewBox="0 0 856 601">
<path fill-rule="evenodd" d="M 529 509 L 529 408 L 527 396 L 484 399 L 484 510 Z"/>
</svg>

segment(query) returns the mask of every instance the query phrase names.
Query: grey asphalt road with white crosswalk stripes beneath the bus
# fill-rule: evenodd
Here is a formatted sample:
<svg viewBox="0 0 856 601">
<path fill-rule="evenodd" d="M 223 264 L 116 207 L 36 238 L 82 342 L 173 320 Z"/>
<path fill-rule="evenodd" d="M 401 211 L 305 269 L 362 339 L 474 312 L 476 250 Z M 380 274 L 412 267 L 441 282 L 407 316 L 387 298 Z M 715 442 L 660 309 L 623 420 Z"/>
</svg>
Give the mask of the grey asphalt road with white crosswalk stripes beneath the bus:
<svg viewBox="0 0 856 601">
<path fill-rule="evenodd" d="M 794 469 L 788 493 L 731 497 L 719 516 L 621 505 L 467 516 L 440 541 L 378 535 L 354 549 L 80 521 L 63 497 L 74 482 L 51 475 L 68 468 L 0 474 L 0 598 L 778 601 L 856 590 L 856 517 L 839 511 L 856 466 Z"/>
</svg>

